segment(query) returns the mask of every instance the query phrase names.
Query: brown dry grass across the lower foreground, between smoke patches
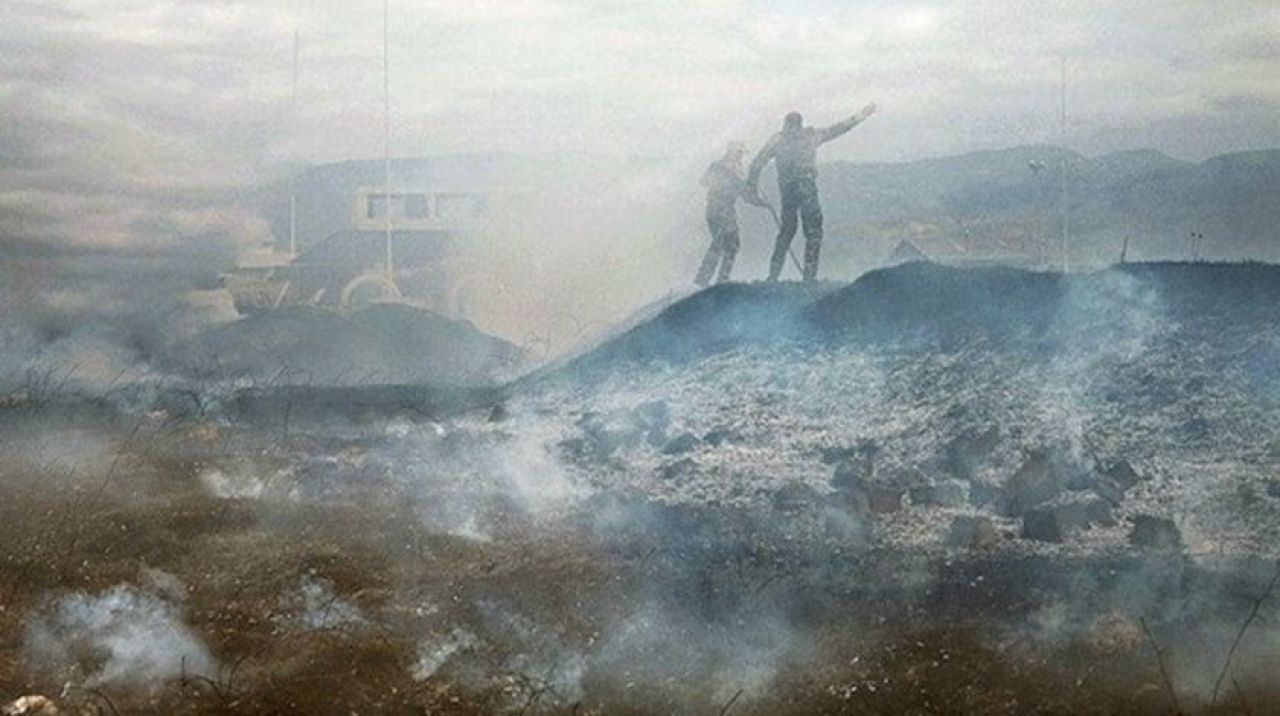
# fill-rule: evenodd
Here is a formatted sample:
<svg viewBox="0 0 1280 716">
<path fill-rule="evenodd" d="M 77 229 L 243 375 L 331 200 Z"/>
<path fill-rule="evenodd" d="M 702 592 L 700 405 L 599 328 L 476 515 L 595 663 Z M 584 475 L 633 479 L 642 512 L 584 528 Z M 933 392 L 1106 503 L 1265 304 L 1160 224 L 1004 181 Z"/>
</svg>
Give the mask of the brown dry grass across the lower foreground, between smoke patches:
<svg viewBox="0 0 1280 716">
<path fill-rule="evenodd" d="M 302 438 L 300 438 L 302 439 Z M 63 684 L 24 662 L 24 624 L 69 590 L 141 584 L 143 569 L 187 585 L 186 622 L 219 662 L 147 688 L 108 684 L 64 699 L 110 713 L 1160 713 L 1171 711 L 1156 661 L 1140 642 L 1002 643 L 992 625 L 1020 619 L 955 619 L 873 596 L 796 610 L 805 647 L 762 690 L 712 689 L 699 666 L 684 679 L 628 684 L 589 672 L 581 703 L 544 674 L 520 672 L 529 644 L 494 628 L 476 605 L 498 603 L 591 653 L 636 608 L 663 569 L 652 552 L 603 551 L 573 528 L 521 515 L 499 520 L 490 542 L 429 530 L 403 494 L 370 479 L 325 502 L 219 500 L 200 470 L 227 459 L 223 438 L 142 441 L 105 474 L 67 470 L 0 475 L 0 702 L 56 696 Z M 123 439 L 120 441 L 123 443 Z M 307 450 L 317 450 L 307 443 Z M 347 446 L 330 444 L 334 452 Z M 243 448 L 251 451 L 246 443 Z M 241 457 L 243 455 L 239 455 Z M 264 465 L 279 456 L 259 453 Z M 655 566 L 658 565 L 658 566 Z M 733 567 L 736 569 L 736 567 Z M 707 574 L 731 574 L 719 565 Z M 820 570 L 819 570 L 820 571 Z M 305 579 L 332 587 L 364 621 L 306 628 L 289 594 Z M 788 584 L 791 598 L 822 585 Z M 787 580 L 794 579 L 791 576 Z M 786 580 L 785 580 L 786 582 Z M 758 578 L 744 579 L 756 584 Z M 782 588 L 782 583 L 778 583 Z M 723 589 L 724 585 L 709 585 Z M 723 598 L 723 597 L 718 597 Z M 462 625 L 484 638 L 471 671 L 415 680 L 425 634 Z M 662 655 L 657 655 L 660 660 Z M 479 670 L 480 672 L 475 672 Z M 741 693 L 737 693 L 741 692 Z M 1217 712 L 1280 703 L 1265 681 L 1240 683 Z M 108 706 L 110 703 L 110 706 Z M 1201 707 L 1204 710 L 1206 707 Z"/>
</svg>

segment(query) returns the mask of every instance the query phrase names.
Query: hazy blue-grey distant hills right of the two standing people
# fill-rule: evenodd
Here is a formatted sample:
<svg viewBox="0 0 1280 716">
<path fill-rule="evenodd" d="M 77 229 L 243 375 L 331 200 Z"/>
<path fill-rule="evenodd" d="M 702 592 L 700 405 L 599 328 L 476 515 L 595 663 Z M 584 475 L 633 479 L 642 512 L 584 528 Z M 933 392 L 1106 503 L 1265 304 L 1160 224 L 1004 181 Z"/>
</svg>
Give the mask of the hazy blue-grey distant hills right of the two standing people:
<svg viewBox="0 0 1280 716">
<path fill-rule="evenodd" d="M 1114 261 L 1125 237 L 1135 259 L 1280 260 L 1280 150 L 1188 163 L 1152 150 L 1085 158 L 1024 146 L 824 165 L 829 265 L 865 270 L 904 240 L 942 260 L 1056 263 L 1064 183 L 1074 264 Z"/>
</svg>

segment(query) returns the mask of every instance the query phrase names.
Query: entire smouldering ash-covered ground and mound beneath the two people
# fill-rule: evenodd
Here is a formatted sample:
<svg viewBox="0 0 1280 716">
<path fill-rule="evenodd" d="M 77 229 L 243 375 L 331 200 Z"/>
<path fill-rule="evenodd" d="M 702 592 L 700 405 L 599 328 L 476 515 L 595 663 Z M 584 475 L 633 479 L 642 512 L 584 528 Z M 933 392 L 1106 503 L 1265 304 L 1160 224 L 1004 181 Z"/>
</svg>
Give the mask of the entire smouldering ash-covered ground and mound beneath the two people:
<svg viewBox="0 0 1280 716">
<path fill-rule="evenodd" d="M 506 386 L 0 410 L 0 701 L 1267 712 L 1280 270 L 726 284 Z"/>
</svg>

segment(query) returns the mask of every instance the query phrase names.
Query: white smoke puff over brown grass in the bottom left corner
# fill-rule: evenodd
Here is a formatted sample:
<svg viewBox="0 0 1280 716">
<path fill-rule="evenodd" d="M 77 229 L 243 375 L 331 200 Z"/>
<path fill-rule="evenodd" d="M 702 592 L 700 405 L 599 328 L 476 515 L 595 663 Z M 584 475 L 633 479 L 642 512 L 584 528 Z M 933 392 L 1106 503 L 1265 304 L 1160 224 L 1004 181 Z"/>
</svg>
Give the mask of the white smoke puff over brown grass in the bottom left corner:
<svg viewBox="0 0 1280 716">
<path fill-rule="evenodd" d="M 131 585 L 58 598 L 28 621 L 23 649 L 31 665 L 84 687 L 155 688 L 214 667 L 179 605 Z"/>
</svg>

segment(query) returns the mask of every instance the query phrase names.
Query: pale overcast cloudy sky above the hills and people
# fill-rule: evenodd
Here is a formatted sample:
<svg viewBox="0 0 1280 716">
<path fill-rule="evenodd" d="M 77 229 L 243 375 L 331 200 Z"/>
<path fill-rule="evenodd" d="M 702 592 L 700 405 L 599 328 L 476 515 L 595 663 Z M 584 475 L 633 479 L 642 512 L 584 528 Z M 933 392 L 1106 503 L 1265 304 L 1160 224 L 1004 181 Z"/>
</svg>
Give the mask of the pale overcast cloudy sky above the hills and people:
<svg viewBox="0 0 1280 716">
<path fill-rule="evenodd" d="M 246 187 L 380 155 L 381 29 L 379 0 L 5 0 L 0 234 L 261 232 Z M 394 0 L 392 146 L 695 156 L 872 100 L 826 159 L 1057 142 L 1065 56 L 1070 146 L 1198 160 L 1280 146 L 1277 38 L 1275 0 Z"/>
</svg>

